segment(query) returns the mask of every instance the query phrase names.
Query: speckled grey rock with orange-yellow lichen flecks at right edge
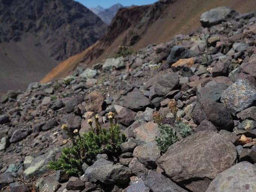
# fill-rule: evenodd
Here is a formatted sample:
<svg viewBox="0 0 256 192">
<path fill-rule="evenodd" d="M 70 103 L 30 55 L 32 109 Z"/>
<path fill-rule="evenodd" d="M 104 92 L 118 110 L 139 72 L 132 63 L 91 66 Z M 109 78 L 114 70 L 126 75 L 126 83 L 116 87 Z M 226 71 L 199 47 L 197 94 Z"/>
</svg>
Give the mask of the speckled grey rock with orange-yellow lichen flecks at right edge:
<svg viewBox="0 0 256 192">
<path fill-rule="evenodd" d="M 222 93 L 220 101 L 235 115 L 256 104 L 256 87 L 245 79 L 237 80 Z"/>
</svg>

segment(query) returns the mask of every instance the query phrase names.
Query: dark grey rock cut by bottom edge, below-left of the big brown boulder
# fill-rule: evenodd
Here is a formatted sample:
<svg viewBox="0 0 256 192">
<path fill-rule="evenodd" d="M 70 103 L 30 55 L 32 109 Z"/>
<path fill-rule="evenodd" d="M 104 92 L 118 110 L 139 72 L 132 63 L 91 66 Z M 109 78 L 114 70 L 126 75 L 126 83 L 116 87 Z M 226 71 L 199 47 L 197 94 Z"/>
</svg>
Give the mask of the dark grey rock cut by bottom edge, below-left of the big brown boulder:
<svg viewBox="0 0 256 192">
<path fill-rule="evenodd" d="M 148 171 L 144 183 L 152 192 L 187 192 L 166 176 L 153 170 Z"/>
</svg>

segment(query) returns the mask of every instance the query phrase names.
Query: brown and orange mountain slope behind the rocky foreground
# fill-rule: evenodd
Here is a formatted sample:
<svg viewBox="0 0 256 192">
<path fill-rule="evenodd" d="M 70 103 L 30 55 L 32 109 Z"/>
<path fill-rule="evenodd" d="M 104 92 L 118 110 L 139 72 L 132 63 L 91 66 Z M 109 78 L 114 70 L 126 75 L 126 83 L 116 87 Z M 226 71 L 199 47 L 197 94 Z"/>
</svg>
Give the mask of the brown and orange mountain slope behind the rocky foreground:
<svg viewBox="0 0 256 192">
<path fill-rule="evenodd" d="M 240 13 L 255 11 L 255 0 L 167 0 L 152 5 L 123 8 L 118 11 L 108 31 L 98 43 L 74 56 L 72 63 L 63 62 L 47 74 L 41 82 L 65 77 L 81 62 L 93 65 L 113 56 L 118 46 L 126 44 L 138 50 L 152 43 L 169 41 L 174 35 L 188 34 L 200 27 L 200 15 L 206 10 L 231 6 Z M 77 57 L 77 59 L 76 59 Z M 72 67 L 71 67 L 72 66 Z"/>
</svg>

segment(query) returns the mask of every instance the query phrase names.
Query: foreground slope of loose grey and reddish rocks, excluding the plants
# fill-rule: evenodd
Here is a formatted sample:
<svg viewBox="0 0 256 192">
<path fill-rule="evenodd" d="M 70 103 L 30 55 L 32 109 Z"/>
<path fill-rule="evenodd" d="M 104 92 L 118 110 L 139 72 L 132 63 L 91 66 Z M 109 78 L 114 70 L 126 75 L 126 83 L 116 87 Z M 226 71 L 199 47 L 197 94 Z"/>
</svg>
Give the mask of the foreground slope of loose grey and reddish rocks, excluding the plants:
<svg viewBox="0 0 256 192">
<path fill-rule="evenodd" d="M 229 7 L 204 13 L 190 35 L 152 44 L 125 58 L 78 67 L 64 80 L 10 91 L 0 105 L 0 187 L 6 191 L 255 191 L 256 16 Z M 162 123 L 174 125 L 167 103 L 193 128 L 161 154 L 154 140 Z M 118 164 L 106 154 L 83 164 L 81 177 L 47 170 L 58 159 L 61 130 L 80 133 L 107 113 L 127 140 Z M 66 144 L 70 145 L 70 143 Z M 125 174 L 123 174 L 125 173 Z"/>
</svg>

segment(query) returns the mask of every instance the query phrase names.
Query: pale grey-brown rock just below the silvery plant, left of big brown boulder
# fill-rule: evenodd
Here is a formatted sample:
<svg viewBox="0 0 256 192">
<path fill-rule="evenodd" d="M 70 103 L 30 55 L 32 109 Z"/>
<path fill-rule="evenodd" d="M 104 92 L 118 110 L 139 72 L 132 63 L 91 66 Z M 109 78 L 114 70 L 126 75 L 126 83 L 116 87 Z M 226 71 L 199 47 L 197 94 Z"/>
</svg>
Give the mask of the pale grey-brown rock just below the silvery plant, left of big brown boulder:
<svg viewBox="0 0 256 192">
<path fill-rule="evenodd" d="M 137 157 L 139 161 L 149 169 L 155 169 L 155 161 L 161 156 L 157 143 L 151 141 L 144 145 L 137 146 L 133 151 L 133 156 Z"/>
</svg>

